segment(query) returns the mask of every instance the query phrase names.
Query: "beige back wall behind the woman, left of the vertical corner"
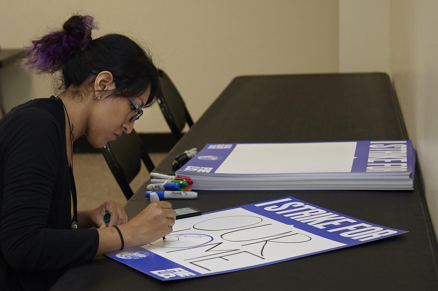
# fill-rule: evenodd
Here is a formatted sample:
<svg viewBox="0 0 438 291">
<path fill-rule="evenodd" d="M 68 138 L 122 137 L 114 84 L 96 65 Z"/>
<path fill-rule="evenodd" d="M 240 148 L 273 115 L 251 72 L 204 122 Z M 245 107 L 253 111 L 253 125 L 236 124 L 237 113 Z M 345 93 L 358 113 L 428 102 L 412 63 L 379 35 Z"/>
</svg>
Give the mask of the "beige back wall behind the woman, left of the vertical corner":
<svg viewBox="0 0 438 291">
<path fill-rule="evenodd" d="M 0 1 L 3 48 L 28 44 L 74 10 L 95 16 L 95 35 L 115 31 L 144 40 L 194 120 L 237 75 L 338 70 L 337 0 Z M 5 94 L 16 104 L 51 94 L 48 78 L 14 80 L 30 86 L 27 96 Z M 138 132 L 170 132 L 158 106 L 148 111 L 135 124 Z"/>
</svg>

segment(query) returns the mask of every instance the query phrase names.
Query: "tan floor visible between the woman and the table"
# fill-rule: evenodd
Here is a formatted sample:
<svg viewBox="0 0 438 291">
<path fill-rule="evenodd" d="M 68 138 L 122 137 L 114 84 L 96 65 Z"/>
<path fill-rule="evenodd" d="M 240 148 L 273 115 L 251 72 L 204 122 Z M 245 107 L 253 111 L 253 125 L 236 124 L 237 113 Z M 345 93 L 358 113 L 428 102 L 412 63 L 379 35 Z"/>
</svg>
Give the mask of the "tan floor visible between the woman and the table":
<svg viewBox="0 0 438 291">
<path fill-rule="evenodd" d="M 155 166 L 166 155 L 166 152 L 149 154 Z M 73 154 L 73 173 L 78 193 L 78 210 L 96 208 L 109 199 L 120 202 L 122 206 L 126 203 L 126 198 L 102 154 Z M 149 172 L 141 163 L 140 173 L 130 184 L 132 191 L 135 193 L 148 179 Z"/>
</svg>

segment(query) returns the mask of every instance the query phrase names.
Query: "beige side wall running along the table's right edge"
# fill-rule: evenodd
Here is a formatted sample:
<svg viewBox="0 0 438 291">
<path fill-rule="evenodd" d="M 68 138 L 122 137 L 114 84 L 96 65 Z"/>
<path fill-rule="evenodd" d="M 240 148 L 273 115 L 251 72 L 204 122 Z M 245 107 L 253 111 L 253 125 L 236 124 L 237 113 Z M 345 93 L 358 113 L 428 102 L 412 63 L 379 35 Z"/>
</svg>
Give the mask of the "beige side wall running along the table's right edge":
<svg viewBox="0 0 438 291">
<path fill-rule="evenodd" d="M 391 0 L 390 11 L 392 80 L 438 234 L 438 1 Z"/>
</svg>

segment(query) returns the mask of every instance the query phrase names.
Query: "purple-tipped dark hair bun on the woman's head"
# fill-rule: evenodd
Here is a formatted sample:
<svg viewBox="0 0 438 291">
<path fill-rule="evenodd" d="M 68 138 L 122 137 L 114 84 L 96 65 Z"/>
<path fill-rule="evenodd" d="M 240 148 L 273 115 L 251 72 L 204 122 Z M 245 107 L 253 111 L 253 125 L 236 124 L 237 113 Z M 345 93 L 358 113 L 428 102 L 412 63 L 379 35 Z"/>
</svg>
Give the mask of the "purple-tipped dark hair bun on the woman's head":
<svg viewBox="0 0 438 291">
<path fill-rule="evenodd" d="M 78 50 L 84 50 L 92 40 L 91 31 L 97 28 L 90 15 L 73 15 L 63 25 L 63 30 L 53 31 L 32 41 L 26 48 L 25 69 L 35 69 L 37 73 L 55 73 Z"/>
</svg>

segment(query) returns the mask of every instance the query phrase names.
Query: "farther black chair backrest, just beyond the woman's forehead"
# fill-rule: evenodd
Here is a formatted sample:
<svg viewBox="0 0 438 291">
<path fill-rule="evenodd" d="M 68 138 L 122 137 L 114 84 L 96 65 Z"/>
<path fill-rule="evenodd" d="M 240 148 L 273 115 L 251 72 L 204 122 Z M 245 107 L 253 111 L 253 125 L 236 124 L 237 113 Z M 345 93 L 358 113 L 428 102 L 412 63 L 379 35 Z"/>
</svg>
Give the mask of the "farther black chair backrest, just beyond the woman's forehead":
<svg viewBox="0 0 438 291">
<path fill-rule="evenodd" d="M 182 130 L 186 122 L 191 127 L 193 120 L 187 111 L 183 98 L 169 76 L 160 69 L 158 70 L 158 76 L 160 80 L 160 91 L 157 96 L 158 104 L 173 135 L 180 139 L 183 136 Z"/>
</svg>

